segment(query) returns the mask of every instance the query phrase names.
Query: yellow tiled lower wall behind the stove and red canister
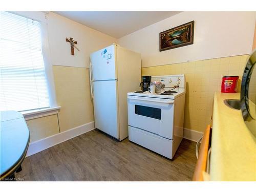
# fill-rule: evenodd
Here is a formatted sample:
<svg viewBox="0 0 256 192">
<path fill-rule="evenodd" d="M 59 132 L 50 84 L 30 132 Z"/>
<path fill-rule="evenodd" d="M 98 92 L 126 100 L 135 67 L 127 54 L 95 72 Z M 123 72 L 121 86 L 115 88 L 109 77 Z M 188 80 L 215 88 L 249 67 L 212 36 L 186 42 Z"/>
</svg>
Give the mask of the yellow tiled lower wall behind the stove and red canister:
<svg viewBox="0 0 256 192">
<path fill-rule="evenodd" d="M 142 75 L 184 73 L 186 78 L 184 127 L 203 132 L 206 125 L 212 121 L 214 92 L 221 91 L 222 77 L 239 75 L 241 84 L 247 57 L 248 55 L 240 55 L 147 67 L 142 68 Z"/>
</svg>

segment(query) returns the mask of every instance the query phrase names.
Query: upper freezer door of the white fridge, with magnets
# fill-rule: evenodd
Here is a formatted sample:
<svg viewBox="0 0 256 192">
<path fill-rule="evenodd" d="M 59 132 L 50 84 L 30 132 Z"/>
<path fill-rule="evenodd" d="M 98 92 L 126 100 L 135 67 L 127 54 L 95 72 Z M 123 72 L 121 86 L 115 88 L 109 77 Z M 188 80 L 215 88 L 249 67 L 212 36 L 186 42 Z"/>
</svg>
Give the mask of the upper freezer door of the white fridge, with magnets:
<svg viewBox="0 0 256 192">
<path fill-rule="evenodd" d="M 111 45 L 91 54 L 92 81 L 117 79 L 115 50 Z"/>
</svg>

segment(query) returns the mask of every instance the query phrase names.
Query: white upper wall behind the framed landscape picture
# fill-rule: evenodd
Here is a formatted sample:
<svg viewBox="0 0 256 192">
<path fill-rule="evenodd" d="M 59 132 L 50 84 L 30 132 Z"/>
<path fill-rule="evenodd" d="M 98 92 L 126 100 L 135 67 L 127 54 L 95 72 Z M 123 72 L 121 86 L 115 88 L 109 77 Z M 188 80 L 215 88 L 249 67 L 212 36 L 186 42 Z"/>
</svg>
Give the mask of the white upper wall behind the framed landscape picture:
<svg viewBox="0 0 256 192">
<path fill-rule="evenodd" d="M 194 44 L 159 52 L 159 33 L 195 20 Z M 142 67 L 249 54 L 256 12 L 181 12 L 126 35 L 118 44 L 141 53 Z"/>
</svg>

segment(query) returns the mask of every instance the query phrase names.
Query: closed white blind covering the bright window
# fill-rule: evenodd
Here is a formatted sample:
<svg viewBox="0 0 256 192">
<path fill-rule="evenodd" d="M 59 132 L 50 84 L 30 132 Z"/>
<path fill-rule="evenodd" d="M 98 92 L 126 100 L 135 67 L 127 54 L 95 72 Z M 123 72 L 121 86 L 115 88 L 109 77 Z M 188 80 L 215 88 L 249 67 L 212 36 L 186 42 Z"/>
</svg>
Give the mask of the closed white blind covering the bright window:
<svg viewBox="0 0 256 192">
<path fill-rule="evenodd" d="M 0 110 L 49 107 L 40 23 L 0 12 Z"/>
</svg>

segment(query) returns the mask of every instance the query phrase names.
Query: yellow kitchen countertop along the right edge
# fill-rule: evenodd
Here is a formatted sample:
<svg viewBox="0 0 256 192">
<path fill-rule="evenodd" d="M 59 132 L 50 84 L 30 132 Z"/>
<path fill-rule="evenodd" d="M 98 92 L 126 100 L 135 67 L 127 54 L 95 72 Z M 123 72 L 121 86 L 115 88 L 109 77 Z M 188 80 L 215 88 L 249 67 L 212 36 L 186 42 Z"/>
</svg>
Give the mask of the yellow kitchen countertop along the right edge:
<svg viewBox="0 0 256 192">
<path fill-rule="evenodd" d="M 256 139 L 241 111 L 229 108 L 224 99 L 240 99 L 240 93 L 215 93 L 210 180 L 255 181 Z"/>
</svg>

